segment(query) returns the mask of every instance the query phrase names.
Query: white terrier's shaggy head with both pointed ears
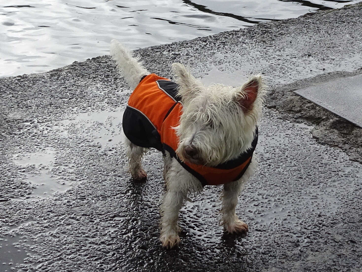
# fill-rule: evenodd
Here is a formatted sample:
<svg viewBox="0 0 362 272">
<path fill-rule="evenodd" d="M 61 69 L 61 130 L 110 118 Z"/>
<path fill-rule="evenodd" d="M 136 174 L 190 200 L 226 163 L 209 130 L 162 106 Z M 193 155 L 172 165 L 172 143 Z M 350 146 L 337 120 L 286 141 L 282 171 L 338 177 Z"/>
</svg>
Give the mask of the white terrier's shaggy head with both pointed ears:
<svg viewBox="0 0 362 272">
<path fill-rule="evenodd" d="M 178 156 L 193 164 L 216 166 L 251 148 L 265 93 L 261 76 L 236 88 L 204 86 L 180 63 L 172 68 L 183 104 L 175 127 Z"/>
</svg>

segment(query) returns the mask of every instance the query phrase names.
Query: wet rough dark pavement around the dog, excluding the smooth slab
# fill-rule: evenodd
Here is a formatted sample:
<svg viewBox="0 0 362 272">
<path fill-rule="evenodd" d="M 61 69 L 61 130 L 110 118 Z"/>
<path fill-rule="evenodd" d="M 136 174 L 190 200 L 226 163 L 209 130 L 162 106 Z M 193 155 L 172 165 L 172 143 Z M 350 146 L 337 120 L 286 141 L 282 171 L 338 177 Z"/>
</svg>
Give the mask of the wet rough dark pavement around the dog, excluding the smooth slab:
<svg viewBox="0 0 362 272">
<path fill-rule="evenodd" d="M 223 234 L 220 187 L 208 187 L 181 211 L 180 247 L 161 248 L 161 156 L 147 153 L 147 182 L 130 181 L 119 137 L 130 91 L 108 56 L 0 79 L 0 271 L 361 271 L 361 128 L 292 92 L 361 73 L 361 12 L 138 51 L 164 76 L 174 61 L 205 82 L 263 73 L 260 170 L 237 208 L 244 238 Z"/>
</svg>

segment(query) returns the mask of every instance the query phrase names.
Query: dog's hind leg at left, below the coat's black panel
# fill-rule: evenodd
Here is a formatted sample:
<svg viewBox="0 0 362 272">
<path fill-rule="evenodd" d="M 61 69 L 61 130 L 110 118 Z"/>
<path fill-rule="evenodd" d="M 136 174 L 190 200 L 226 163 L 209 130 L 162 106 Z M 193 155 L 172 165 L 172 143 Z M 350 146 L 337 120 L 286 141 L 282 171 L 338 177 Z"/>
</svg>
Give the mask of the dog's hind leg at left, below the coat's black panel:
<svg viewBox="0 0 362 272">
<path fill-rule="evenodd" d="M 142 168 L 142 157 L 146 148 L 139 147 L 132 144 L 127 137 L 125 137 L 125 146 L 127 150 L 127 156 L 130 164 L 130 173 L 134 180 L 143 180 L 147 178 L 147 173 Z"/>
</svg>

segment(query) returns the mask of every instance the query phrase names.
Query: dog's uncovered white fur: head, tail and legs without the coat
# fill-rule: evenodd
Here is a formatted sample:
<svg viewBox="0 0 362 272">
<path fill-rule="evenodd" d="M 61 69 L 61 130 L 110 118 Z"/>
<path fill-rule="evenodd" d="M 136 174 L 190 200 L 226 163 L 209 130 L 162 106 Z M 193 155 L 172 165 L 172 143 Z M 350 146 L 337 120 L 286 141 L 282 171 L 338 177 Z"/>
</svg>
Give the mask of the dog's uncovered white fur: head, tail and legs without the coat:
<svg viewBox="0 0 362 272">
<path fill-rule="evenodd" d="M 130 50 L 115 40 L 111 42 L 111 55 L 132 90 L 143 76 L 150 74 L 139 58 L 133 57 Z M 260 75 L 251 77 L 239 87 L 221 84 L 204 86 L 182 64 L 173 63 L 172 70 L 178 78 L 178 93 L 183 105 L 180 124 L 174 128 L 180 139 L 176 153 L 181 160 L 212 167 L 232 160 L 251 148 L 265 94 Z M 146 149 L 136 146 L 127 138 L 125 146 L 132 178 L 147 178 L 142 168 Z M 202 191 L 203 186 L 168 152 L 165 153 L 164 179 L 167 189 L 160 207 L 160 241 L 164 247 L 172 248 L 180 243 L 180 208 L 190 194 Z M 248 231 L 248 225 L 237 217 L 235 209 L 238 195 L 256 168 L 257 161 L 253 159 L 239 180 L 223 185 L 221 222 L 227 233 L 245 234 Z"/>
</svg>

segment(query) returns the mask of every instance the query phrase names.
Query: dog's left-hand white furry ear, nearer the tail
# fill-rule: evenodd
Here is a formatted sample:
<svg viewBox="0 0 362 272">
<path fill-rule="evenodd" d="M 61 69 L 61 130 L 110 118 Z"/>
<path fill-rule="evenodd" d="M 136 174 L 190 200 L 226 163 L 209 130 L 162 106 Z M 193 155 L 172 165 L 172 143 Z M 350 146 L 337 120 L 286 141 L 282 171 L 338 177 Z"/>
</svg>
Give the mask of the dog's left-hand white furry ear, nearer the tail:
<svg viewBox="0 0 362 272">
<path fill-rule="evenodd" d="M 173 63 L 172 70 L 178 77 L 177 83 L 180 85 L 179 95 L 183 98 L 190 97 L 202 90 L 202 83 L 197 81 L 196 78 L 191 75 L 190 70 L 186 69 L 184 65 L 181 63 Z"/>
</svg>

